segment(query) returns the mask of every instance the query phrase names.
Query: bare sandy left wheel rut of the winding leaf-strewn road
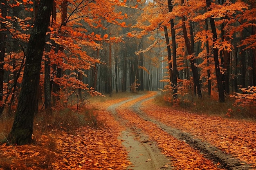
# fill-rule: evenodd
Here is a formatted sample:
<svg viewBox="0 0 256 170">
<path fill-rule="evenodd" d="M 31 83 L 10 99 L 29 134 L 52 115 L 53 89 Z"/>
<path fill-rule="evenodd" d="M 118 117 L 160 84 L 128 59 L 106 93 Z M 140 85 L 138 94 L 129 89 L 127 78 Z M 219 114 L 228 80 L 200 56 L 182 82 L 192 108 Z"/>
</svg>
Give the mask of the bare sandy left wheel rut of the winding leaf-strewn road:
<svg viewBox="0 0 256 170">
<path fill-rule="evenodd" d="M 171 166 L 168 166 L 170 159 L 161 153 L 156 142 L 148 141 L 148 136 L 141 133 L 140 129 L 126 126 L 127 121 L 122 119 L 116 111 L 121 104 L 132 101 L 137 97 L 139 96 L 134 96 L 108 107 L 108 111 L 126 129 L 119 139 L 123 141 L 123 145 L 129 151 L 128 157 L 132 164 L 128 166 L 127 170 L 173 170 Z"/>
</svg>

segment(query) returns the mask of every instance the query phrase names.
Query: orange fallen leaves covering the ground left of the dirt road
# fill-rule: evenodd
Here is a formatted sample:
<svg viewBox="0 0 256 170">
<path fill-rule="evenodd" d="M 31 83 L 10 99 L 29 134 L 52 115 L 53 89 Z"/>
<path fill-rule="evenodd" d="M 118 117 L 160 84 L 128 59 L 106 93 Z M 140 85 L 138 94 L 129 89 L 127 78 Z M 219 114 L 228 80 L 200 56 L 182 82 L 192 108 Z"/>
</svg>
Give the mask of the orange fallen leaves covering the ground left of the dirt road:
<svg viewBox="0 0 256 170">
<path fill-rule="evenodd" d="M 125 99 L 125 98 L 124 98 Z M 115 99 L 106 108 L 124 99 Z M 99 129 L 81 127 L 74 132 L 52 130 L 41 135 L 35 144 L 0 146 L 0 170 L 124 170 L 130 162 L 118 140 L 118 123 L 106 111 L 97 110 Z"/>
</svg>

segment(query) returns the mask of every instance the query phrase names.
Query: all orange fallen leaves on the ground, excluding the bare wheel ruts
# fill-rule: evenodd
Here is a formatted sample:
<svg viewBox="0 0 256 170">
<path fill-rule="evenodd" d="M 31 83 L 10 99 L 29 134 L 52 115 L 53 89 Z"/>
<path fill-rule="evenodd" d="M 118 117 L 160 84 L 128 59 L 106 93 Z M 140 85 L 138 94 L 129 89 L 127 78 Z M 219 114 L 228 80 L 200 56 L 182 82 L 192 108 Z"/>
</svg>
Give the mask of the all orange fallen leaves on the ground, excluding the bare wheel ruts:
<svg viewBox="0 0 256 170">
<path fill-rule="evenodd" d="M 148 93 L 123 104 L 122 108 L 117 109 L 119 115 L 128 120 L 128 126 L 140 128 L 150 137 L 149 140 L 156 141 L 164 155 L 172 157 L 175 169 L 219 170 L 220 163 L 206 159 L 200 151 L 164 132 L 156 124 L 141 119 L 129 109 L 132 104 L 153 95 L 155 93 Z M 74 134 L 54 130 L 48 136 L 42 135 L 37 145 L 0 146 L 0 156 L 4 158 L 0 160 L 0 170 L 126 169 L 130 164 L 128 152 L 118 139 L 124 128 L 106 110 L 108 106 L 124 99 L 97 103 L 98 119 L 104 128 L 83 127 Z M 175 108 L 157 106 L 152 100 L 144 102 L 140 109 L 148 116 L 189 132 L 256 168 L 255 123 L 186 113 Z M 49 145 L 51 139 L 56 141 L 56 148 L 52 150 Z M 48 145 L 48 149 L 45 145 Z"/>
</svg>

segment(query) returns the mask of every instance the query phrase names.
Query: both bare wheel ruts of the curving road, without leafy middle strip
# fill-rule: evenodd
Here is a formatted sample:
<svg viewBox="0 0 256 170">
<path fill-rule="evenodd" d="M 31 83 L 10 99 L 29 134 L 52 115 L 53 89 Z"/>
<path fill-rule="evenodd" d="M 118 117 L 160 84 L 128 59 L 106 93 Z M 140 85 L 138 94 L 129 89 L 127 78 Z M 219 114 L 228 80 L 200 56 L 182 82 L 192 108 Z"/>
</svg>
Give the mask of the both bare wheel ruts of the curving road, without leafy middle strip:
<svg viewBox="0 0 256 170">
<path fill-rule="evenodd" d="M 128 120 L 123 119 L 116 111 L 117 108 L 120 109 L 121 105 L 131 102 L 135 99 L 142 97 L 142 95 L 136 95 L 130 97 L 126 101 L 119 102 L 108 107 L 108 111 L 112 113 L 112 115 L 117 119 L 117 121 L 126 128 L 125 131 L 122 132 L 120 137 L 123 140 L 123 144 L 129 151 L 129 159 L 132 164 L 127 168 L 127 170 L 171 170 L 174 169 L 170 164 L 170 159 L 162 155 L 161 150 L 158 148 L 157 143 L 155 141 L 149 141 L 148 136 L 141 132 L 141 129 L 138 128 L 130 128 L 126 126 L 126 122 Z M 154 96 L 153 96 L 154 97 Z M 145 121 L 152 122 L 157 125 L 164 132 L 167 132 L 169 135 L 175 137 L 180 141 L 186 142 L 189 144 L 191 148 L 196 148 L 200 150 L 200 152 L 204 153 L 207 159 L 213 160 L 216 163 L 220 162 L 222 168 L 227 170 L 249 170 L 249 165 L 244 162 L 240 162 L 235 157 L 231 155 L 227 155 L 223 153 L 221 150 L 216 148 L 215 146 L 204 142 L 200 139 L 197 139 L 195 136 L 182 132 L 177 128 L 173 128 L 170 126 L 166 126 L 165 124 L 157 121 L 156 119 L 150 118 L 141 111 L 139 108 L 141 104 L 147 100 L 153 99 L 153 97 L 149 97 L 146 99 L 142 99 L 136 101 L 134 104 L 130 105 L 130 110 L 133 113 L 136 113 L 141 119 Z"/>
</svg>

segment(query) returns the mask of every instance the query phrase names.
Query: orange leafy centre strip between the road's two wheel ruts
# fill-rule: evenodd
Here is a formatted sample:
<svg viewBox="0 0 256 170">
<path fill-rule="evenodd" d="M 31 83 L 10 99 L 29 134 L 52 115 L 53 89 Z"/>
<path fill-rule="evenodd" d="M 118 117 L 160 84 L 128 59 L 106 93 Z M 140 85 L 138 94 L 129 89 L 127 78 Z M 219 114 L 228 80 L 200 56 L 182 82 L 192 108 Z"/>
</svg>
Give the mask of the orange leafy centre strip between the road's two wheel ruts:
<svg viewBox="0 0 256 170">
<path fill-rule="evenodd" d="M 172 158 L 172 166 L 176 170 L 220 170 L 218 165 L 214 165 L 212 161 L 204 158 L 200 152 L 191 148 L 184 141 L 177 140 L 167 132 L 159 129 L 157 125 L 141 119 L 136 113 L 131 111 L 130 106 L 132 104 L 153 95 L 155 93 L 151 92 L 148 95 L 121 105 L 117 109 L 118 114 L 128 120 L 128 126 L 140 128 L 149 136 L 149 140 L 156 141 L 159 147 L 162 148 L 163 154 Z M 148 106 L 151 108 L 150 105 Z"/>
</svg>

